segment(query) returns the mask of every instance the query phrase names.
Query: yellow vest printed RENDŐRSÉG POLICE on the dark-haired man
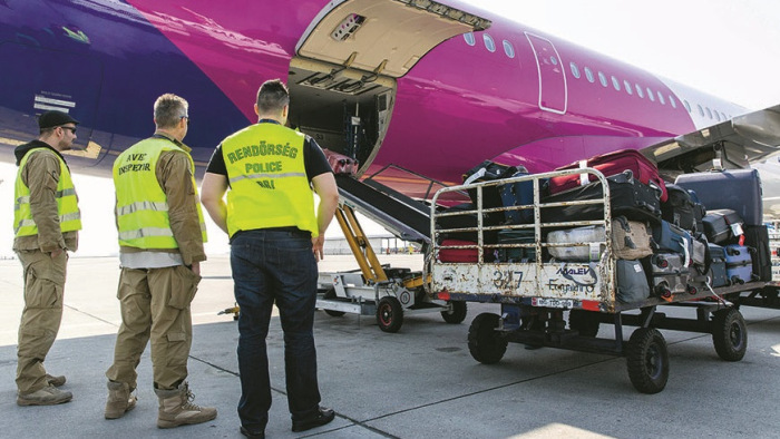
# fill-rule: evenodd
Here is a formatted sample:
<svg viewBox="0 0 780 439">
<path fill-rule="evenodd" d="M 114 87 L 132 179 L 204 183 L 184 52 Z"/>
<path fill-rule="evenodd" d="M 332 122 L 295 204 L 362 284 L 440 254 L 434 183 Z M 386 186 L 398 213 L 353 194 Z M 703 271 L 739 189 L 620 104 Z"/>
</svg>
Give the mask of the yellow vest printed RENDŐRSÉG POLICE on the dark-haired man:
<svg viewBox="0 0 780 439">
<path fill-rule="evenodd" d="M 277 124 L 252 125 L 222 143 L 231 191 L 227 231 L 295 226 L 319 235 L 303 162 L 305 136 Z"/>
</svg>

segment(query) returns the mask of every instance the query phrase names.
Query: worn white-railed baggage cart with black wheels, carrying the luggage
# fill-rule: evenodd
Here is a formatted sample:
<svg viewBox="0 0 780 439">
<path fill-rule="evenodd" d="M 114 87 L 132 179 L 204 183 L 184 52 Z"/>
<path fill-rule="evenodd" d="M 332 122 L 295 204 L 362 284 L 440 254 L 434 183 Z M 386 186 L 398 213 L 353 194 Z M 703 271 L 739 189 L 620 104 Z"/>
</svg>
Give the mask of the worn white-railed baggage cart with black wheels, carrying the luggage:
<svg viewBox="0 0 780 439">
<path fill-rule="evenodd" d="M 540 192 L 544 182 L 556 176 L 593 174 L 603 188 L 602 195 L 591 199 L 543 203 Z M 534 202 L 513 207 L 482 208 L 482 192 L 493 185 L 533 182 Z M 585 178 L 583 178 L 586 182 Z M 643 393 L 656 393 L 664 389 L 669 378 L 666 342 L 659 329 L 691 331 L 712 334 L 718 354 L 727 361 L 739 361 L 747 350 L 747 326 L 739 310 L 722 297 L 740 291 L 762 287 L 763 283 L 745 283 L 728 287 L 688 287 L 675 294 L 650 293 L 633 303 L 623 303 L 618 296 L 617 260 L 613 244 L 611 187 L 607 178 L 596 169 L 579 168 L 546 174 L 511 177 L 504 181 L 452 186 L 440 189 L 432 205 L 443 194 L 452 191 L 477 191 L 475 212 L 477 227 L 446 230 L 437 225 L 442 215 L 464 215 L 468 212 L 437 212 L 431 209 L 432 244 L 426 264 L 426 287 L 430 295 L 443 301 L 466 301 L 500 304 L 500 314 L 477 315 L 468 332 L 468 347 L 479 362 L 498 362 L 506 352 L 508 342 L 532 347 L 552 347 L 576 351 L 626 357 L 628 377 L 633 386 Z M 595 220 L 553 222 L 545 209 L 593 207 L 603 209 Z M 486 214 L 501 209 L 532 209 L 533 223 L 485 224 Z M 556 211 L 557 209 L 557 211 Z M 549 211 L 548 211 L 549 212 Z M 547 222 L 542 223 L 540 218 Z M 588 216 L 585 216 L 588 217 Z M 447 222 L 455 223 L 455 222 Z M 548 243 L 545 234 L 550 230 L 601 225 L 604 236 L 596 242 L 556 244 Z M 504 230 L 533 231 L 533 243 L 503 244 L 493 236 Z M 438 252 L 446 250 L 441 242 L 454 233 L 474 233 L 476 240 L 458 248 L 472 248 L 478 253 L 477 262 L 441 262 Z M 587 262 L 562 262 L 546 256 L 552 248 L 583 246 L 592 260 Z M 451 247 L 451 246 L 450 246 Z M 510 252 L 529 252 L 538 257 L 507 258 Z M 595 250 L 595 251 L 594 251 Z M 533 252 L 530 252 L 533 251 Z M 559 253 L 559 252 L 554 252 Z M 500 257 L 505 255 L 505 257 Z M 637 269 L 638 270 L 638 269 Z M 662 295 L 666 295 L 663 297 Z M 716 299 L 706 301 L 705 299 Z M 681 319 L 659 312 L 660 305 L 676 305 L 695 310 L 695 318 Z M 568 311 L 568 328 L 564 313 Z M 627 311 L 637 311 L 625 313 Z M 599 323 L 614 324 L 614 339 L 597 338 Z M 624 325 L 638 326 L 624 341 Z"/>
</svg>

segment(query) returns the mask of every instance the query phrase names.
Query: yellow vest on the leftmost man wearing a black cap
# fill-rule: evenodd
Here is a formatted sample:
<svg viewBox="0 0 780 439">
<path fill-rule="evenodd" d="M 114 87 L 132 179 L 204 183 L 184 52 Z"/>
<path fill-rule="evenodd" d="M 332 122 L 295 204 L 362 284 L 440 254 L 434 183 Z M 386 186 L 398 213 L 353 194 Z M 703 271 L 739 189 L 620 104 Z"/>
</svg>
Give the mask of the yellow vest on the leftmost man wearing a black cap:
<svg viewBox="0 0 780 439">
<path fill-rule="evenodd" d="M 19 172 L 17 173 L 17 182 L 14 186 L 13 198 L 13 231 L 16 236 L 32 236 L 38 234 L 38 226 L 32 220 L 30 211 L 30 188 L 21 181 L 21 173 L 27 165 L 27 160 L 39 152 L 47 148 L 30 149 L 19 163 Z M 81 212 L 78 208 L 78 196 L 74 187 L 74 181 L 70 179 L 70 170 L 65 164 L 65 160 L 59 155 L 56 155 L 59 160 L 59 183 L 55 199 L 57 201 L 57 215 L 59 216 L 60 232 L 74 232 L 81 230 Z"/>
</svg>

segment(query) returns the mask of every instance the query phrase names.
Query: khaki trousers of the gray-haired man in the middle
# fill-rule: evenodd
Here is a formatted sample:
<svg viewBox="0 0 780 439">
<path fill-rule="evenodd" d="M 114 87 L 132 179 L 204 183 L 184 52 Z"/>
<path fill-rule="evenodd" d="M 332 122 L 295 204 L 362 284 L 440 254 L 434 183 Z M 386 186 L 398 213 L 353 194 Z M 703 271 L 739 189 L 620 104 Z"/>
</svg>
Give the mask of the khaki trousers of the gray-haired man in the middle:
<svg viewBox="0 0 780 439">
<path fill-rule="evenodd" d="M 184 265 L 164 269 L 121 269 L 117 299 L 121 326 L 114 349 L 111 381 L 138 387 L 136 367 L 152 340 L 152 367 L 157 389 L 175 389 L 187 378 L 193 340 L 189 303 L 201 276 Z"/>
</svg>

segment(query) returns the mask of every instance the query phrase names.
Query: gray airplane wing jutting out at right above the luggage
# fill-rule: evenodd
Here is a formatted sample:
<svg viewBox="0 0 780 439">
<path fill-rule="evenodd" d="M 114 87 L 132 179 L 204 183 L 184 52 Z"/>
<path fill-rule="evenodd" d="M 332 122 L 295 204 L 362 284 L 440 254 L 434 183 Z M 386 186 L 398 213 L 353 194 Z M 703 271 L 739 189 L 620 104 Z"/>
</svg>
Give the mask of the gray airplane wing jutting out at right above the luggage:
<svg viewBox="0 0 780 439">
<path fill-rule="evenodd" d="M 649 146 L 641 150 L 673 181 L 712 168 L 739 169 L 780 155 L 780 105 Z"/>
</svg>

